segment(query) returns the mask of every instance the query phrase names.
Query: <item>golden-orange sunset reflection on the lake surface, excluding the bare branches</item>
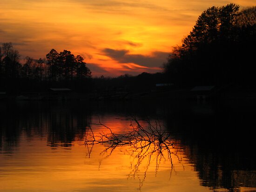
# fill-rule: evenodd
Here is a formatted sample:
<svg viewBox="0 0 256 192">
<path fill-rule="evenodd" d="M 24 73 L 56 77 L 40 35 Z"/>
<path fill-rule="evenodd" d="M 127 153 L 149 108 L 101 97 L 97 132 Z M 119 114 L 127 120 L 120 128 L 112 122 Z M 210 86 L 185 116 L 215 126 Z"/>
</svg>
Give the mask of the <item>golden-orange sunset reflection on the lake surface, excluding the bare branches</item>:
<svg viewBox="0 0 256 192">
<path fill-rule="evenodd" d="M 128 121 L 107 122 L 113 131 L 125 132 L 128 128 Z M 102 131 L 102 126 L 94 128 Z M 12 153 L 0 154 L 0 191 L 211 191 L 200 185 L 182 147 L 170 148 L 171 159 L 166 150 L 161 158 L 152 150 L 143 151 L 142 157 L 127 145 L 116 146 L 111 155 L 104 152 L 106 146 L 94 145 L 89 154 L 84 140 L 85 135 L 70 145 L 52 147 L 47 137 L 33 139 L 22 133 L 20 145 Z M 178 143 L 175 141 L 176 146 Z"/>
</svg>

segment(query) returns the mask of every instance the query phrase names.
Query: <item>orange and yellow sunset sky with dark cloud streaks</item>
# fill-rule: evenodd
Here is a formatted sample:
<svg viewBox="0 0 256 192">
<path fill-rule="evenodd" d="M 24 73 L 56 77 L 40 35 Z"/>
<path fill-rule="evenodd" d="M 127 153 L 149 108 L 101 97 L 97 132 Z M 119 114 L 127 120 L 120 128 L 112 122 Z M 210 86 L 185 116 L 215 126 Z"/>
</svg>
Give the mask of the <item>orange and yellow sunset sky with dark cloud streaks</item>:
<svg viewBox="0 0 256 192">
<path fill-rule="evenodd" d="M 0 43 L 44 58 L 54 48 L 85 58 L 93 76 L 161 71 L 203 10 L 255 0 L 0 0 Z"/>
</svg>

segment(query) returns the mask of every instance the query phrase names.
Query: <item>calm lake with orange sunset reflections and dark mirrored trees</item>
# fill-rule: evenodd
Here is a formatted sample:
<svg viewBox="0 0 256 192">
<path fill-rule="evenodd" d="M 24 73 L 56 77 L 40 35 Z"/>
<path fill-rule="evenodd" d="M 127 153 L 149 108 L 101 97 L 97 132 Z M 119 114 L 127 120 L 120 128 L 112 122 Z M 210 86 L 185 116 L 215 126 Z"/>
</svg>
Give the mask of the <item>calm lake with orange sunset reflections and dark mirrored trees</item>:
<svg viewBox="0 0 256 192">
<path fill-rule="evenodd" d="M 255 127 L 255 101 L 1 101 L 0 192 L 256 192 Z"/>
</svg>

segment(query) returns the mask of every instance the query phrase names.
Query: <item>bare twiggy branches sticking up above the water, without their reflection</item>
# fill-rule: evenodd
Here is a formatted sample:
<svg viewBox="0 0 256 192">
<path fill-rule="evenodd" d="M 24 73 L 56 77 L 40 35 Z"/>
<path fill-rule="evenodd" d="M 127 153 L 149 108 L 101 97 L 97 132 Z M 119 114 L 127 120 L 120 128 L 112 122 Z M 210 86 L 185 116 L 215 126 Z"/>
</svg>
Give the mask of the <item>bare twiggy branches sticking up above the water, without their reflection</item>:
<svg viewBox="0 0 256 192">
<path fill-rule="evenodd" d="M 108 144 L 108 145 L 130 145 L 139 148 L 145 148 L 151 143 L 157 144 L 160 148 L 168 149 L 170 146 L 174 146 L 173 142 L 169 139 L 169 132 L 163 131 L 162 126 L 155 121 L 153 126 L 149 120 L 147 120 L 148 126 L 141 126 L 139 121 L 135 118 L 130 119 L 131 131 L 125 134 L 114 133 L 111 128 L 101 123 L 91 123 L 88 127 L 86 134 L 85 144 Z M 135 125 L 134 123 L 135 122 Z M 97 134 L 91 128 L 91 125 L 103 126 L 108 130 L 108 133 L 98 132 Z"/>
</svg>

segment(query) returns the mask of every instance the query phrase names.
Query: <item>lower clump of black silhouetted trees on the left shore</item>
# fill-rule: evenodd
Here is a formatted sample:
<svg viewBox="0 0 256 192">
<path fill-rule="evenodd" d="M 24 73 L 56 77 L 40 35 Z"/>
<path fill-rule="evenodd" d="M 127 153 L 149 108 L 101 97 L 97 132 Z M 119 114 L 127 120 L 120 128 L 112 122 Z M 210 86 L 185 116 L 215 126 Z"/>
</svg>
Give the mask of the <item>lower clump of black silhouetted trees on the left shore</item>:
<svg viewBox="0 0 256 192">
<path fill-rule="evenodd" d="M 52 49 L 39 60 L 27 56 L 21 64 L 11 42 L 0 46 L 0 87 L 8 92 L 40 91 L 52 86 L 86 91 L 91 76 L 83 57 L 67 50 L 58 53 Z"/>
</svg>

